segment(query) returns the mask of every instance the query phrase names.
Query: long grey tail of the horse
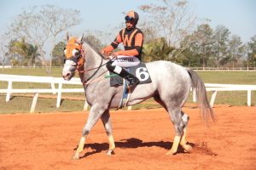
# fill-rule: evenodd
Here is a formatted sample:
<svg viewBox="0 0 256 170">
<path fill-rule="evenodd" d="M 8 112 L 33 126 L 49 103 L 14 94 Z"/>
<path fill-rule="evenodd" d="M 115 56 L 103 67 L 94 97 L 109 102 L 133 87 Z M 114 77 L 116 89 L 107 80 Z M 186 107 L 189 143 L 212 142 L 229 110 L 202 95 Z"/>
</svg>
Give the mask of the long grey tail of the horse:
<svg viewBox="0 0 256 170">
<path fill-rule="evenodd" d="M 195 91 L 196 99 L 201 106 L 201 116 L 203 121 L 207 122 L 209 115 L 211 115 L 213 122 L 216 122 L 214 111 L 207 99 L 207 91 L 204 82 L 202 82 L 195 71 L 191 69 L 187 69 L 187 71 L 191 77 L 192 90 Z"/>
</svg>

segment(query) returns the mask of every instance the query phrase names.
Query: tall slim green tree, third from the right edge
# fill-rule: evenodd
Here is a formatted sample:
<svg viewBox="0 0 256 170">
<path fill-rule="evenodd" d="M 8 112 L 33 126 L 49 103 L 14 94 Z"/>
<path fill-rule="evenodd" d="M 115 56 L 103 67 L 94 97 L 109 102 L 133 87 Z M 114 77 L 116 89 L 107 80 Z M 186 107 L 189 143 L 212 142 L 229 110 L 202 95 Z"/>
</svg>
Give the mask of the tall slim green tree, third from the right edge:
<svg viewBox="0 0 256 170">
<path fill-rule="evenodd" d="M 230 37 L 230 31 L 225 26 L 217 26 L 214 31 L 214 44 L 213 53 L 216 57 L 217 67 L 220 61 L 227 57 L 228 55 L 228 42 Z"/>
</svg>

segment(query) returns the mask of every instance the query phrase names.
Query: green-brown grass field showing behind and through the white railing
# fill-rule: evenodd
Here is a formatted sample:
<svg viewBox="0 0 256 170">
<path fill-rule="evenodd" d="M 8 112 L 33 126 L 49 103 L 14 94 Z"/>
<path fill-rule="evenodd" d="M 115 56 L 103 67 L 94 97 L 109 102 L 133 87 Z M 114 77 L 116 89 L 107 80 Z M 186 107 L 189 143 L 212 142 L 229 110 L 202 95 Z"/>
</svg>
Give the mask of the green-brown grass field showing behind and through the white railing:
<svg viewBox="0 0 256 170">
<path fill-rule="evenodd" d="M 53 68 L 51 74 L 47 74 L 44 69 L 29 68 L 29 69 L 4 69 L 0 71 L 1 74 L 13 74 L 13 75 L 29 75 L 29 76 L 45 76 L 45 77 L 61 77 L 61 68 Z M 254 84 L 256 85 L 256 71 L 197 71 L 201 79 L 206 83 L 228 83 L 228 84 Z M 78 76 L 77 76 L 78 77 Z M 50 88 L 50 84 L 47 83 L 29 83 L 29 82 L 14 82 L 14 88 Z M 65 85 L 63 88 L 82 88 L 78 85 Z M 7 82 L 0 82 L 0 88 L 7 88 Z M 57 88 L 57 85 L 55 85 Z M 211 92 L 207 93 L 208 99 L 211 97 Z M 46 94 L 39 94 L 39 99 L 36 107 L 36 112 L 54 112 L 54 111 L 83 111 L 84 107 L 84 93 L 77 94 L 62 94 L 63 97 L 76 97 L 79 99 L 62 99 L 61 107 L 57 109 L 56 97 L 53 94 L 47 94 L 53 96 L 52 99 L 40 98 Z M 12 95 L 13 98 L 6 103 L 5 94 L 0 94 L 0 113 L 16 113 L 16 112 L 29 112 L 32 104 L 32 97 L 22 97 L 16 94 Z M 147 100 L 140 105 L 135 105 L 132 109 L 151 109 L 158 108 L 160 105 L 154 104 L 153 99 Z M 192 103 L 191 95 L 189 97 L 189 103 Z M 215 104 L 226 105 L 247 105 L 247 92 L 218 92 Z M 252 94 L 252 105 L 256 105 L 256 92 Z"/>
</svg>

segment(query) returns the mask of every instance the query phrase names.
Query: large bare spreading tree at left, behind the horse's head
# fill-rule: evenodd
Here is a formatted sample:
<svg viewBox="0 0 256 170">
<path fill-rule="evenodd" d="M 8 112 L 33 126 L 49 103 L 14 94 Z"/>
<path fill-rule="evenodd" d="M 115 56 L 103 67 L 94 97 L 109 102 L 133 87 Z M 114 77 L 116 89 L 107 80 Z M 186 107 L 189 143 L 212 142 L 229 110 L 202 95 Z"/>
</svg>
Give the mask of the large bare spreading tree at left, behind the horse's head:
<svg viewBox="0 0 256 170">
<path fill-rule="evenodd" d="M 26 37 L 28 42 L 36 44 L 44 65 L 45 50 L 50 49 L 52 52 L 57 37 L 68 28 L 79 24 L 79 14 L 78 10 L 71 8 L 59 8 L 53 5 L 36 6 L 30 8 L 28 12 L 24 10 L 17 16 L 9 28 L 9 36 L 18 40 Z M 49 54 L 47 71 L 50 73 L 52 53 Z"/>
</svg>

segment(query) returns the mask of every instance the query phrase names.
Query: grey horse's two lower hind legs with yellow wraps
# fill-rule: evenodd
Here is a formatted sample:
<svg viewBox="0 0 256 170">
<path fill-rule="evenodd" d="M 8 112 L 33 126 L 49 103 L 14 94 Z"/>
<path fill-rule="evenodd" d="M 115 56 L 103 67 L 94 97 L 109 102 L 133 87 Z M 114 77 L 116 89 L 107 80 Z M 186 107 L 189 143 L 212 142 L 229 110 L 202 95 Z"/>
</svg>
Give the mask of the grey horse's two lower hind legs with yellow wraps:
<svg viewBox="0 0 256 170">
<path fill-rule="evenodd" d="M 189 151 L 189 145 L 186 144 L 186 129 L 187 122 L 189 118 L 186 119 L 186 114 L 183 114 L 180 108 L 172 108 L 167 110 L 169 113 L 169 116 L 171 117 L 171 121 L 175 128 L 175 137 L 173 139 L 172 143 L 172 149 L 169 150 L 166 155 L 174 155 L 177 153 L 177 147 L 178 144 L 181 144 L 183 146 L 184 150 Z M 183 135 L 183 137 L 182 137 Z"/>
</svg>

